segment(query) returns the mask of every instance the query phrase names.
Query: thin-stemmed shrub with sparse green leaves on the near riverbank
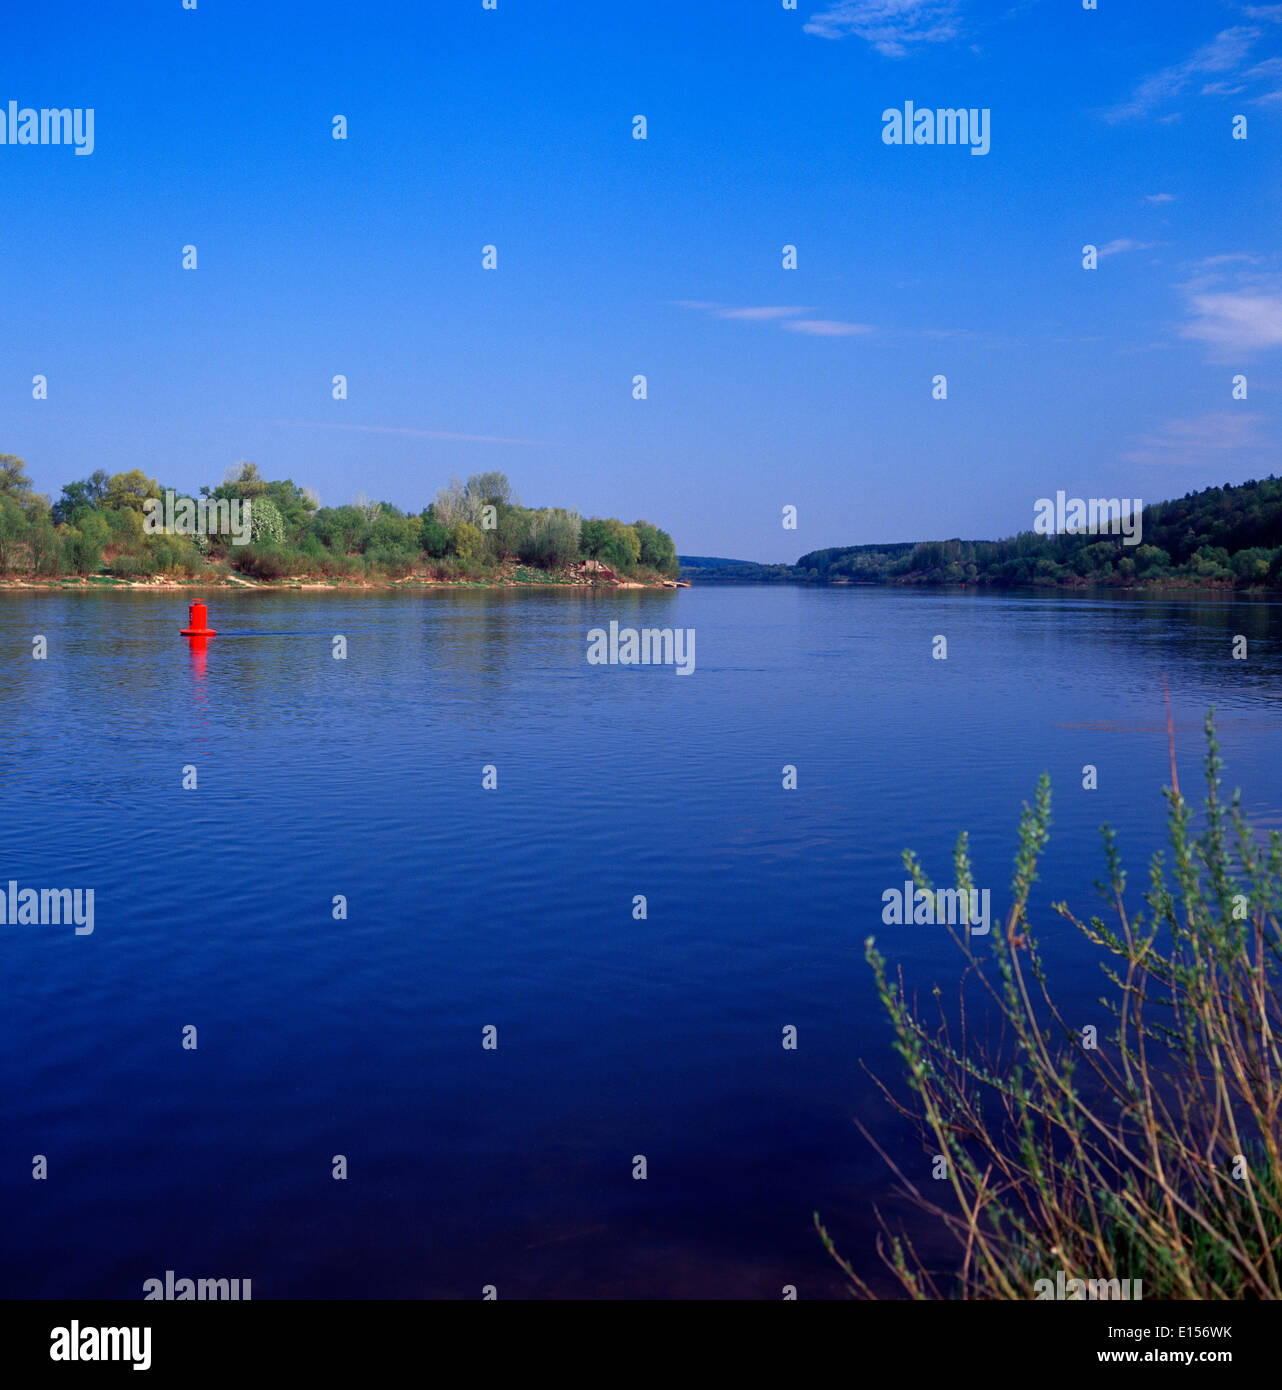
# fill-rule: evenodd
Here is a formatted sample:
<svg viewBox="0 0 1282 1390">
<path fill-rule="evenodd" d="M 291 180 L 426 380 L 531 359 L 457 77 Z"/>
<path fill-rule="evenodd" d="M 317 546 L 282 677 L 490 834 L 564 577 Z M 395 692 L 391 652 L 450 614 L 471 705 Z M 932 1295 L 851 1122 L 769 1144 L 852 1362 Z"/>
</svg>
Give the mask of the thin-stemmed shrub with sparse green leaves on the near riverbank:
<svg viewBox="0 0 1282 1390">
<path fill-rule="evenodd" d="M 1021 820 L 1004 930 L 980 951 L 954 933 L 965 965 L 955 1011 L 936 988 L 939 1016 L 925 1017 L 869 938 L 907 1068 L 907 1098 L 886 1094 L 947 1159 L 943 1198 L 904 1182 L 957 1243 L 940 1275 L 882 1222 L 877 1248 L 911 1297 L 1030 1298 L 1060 1269 L 1140 1279 L 1144 1298 L 1282 1297 L 1282 835 L 1254 831 L 1240 794 L 1225 805 L 1210 714 L 1206 731 L 1200 830 L 1172 735 L 1171 855 L 1154 856 L 1146 906 L 1128 894 L 1105 826 L 1108 920 L 1054 908 L 1098 954 L 1111 1036 L 1083 1036 L 1057 1001 L 1030 920 L 1050 831 L 1044 776 Z M 904 862 L 929 890 L 915 856 Z M 957 887 L 972 888 L 965 835 L 954 865 Z"/>
</svg>

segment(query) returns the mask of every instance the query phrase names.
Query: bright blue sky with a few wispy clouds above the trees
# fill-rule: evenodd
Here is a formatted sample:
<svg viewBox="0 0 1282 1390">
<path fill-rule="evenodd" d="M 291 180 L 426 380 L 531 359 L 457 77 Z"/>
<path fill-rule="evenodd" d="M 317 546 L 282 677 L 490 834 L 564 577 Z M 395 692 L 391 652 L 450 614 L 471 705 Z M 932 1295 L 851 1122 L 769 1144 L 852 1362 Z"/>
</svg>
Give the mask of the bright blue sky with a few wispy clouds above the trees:
<svg viewBox="0 0 1282 1390">
<path fill-rule="evenodd" d="M 1282 4 L 51 0 L 10 100 L 95 108 L 0 146 L 0 452 L 51 496 L 501 468 L 793 560 L 1278 470 Z M 990 152 L 887 146 L 905 100 Z"/>
</svg>

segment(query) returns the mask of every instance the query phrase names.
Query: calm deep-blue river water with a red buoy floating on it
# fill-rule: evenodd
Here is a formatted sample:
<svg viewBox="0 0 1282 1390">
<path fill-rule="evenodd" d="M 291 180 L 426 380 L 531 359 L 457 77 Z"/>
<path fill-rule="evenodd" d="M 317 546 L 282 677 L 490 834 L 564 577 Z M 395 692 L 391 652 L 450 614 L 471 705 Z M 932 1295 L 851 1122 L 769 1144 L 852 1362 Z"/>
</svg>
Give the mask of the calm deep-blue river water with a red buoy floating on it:
<svg viewBox="0 0 1282 1390">
<path fill-rule="evenodd" d="M 1282 826 L 1275 603 L 218 591 L 202 655 L 188 599 L 0 595 L 0 883 L 96 895 L 92 935 L 0 927 L 4 1297 L 167 1269 L 254 1298 L 840 1295 L 811 1213 L 873 1273 L 872 1204 L 901 1211 L 854 1119 L 927 1170 L 868 1074 L 897 1084 L 863 938 L 958 976 L 943 929 L 880 922 L 901 851 L 947 880 L 968 830 L 996 916 L 1046 770 L 1036 902 L 1094 909 L 1104 820 L 1139 887 L 1164 673 L 1186 794 L 1214 702 L 1228 781 Z M 590 667 L 610 619 L 692 627 L 695 673 Z"/>
</svg>

